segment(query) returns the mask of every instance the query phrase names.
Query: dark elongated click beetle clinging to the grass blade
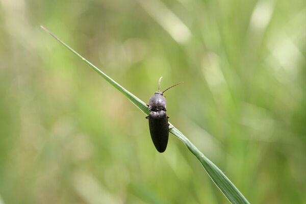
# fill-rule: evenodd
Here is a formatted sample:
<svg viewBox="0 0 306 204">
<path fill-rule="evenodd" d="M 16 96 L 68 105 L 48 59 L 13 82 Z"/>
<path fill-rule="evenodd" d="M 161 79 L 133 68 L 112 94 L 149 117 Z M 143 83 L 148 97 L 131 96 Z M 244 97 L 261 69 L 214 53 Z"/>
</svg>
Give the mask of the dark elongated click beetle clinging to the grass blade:
<svg viewBox="0 0 306 204">
<path fill-rule="evenodd" d="M 149 104 L 147 104 L 147 106 L 149 107 L 149 111 L 151 112 L 148 116 L 145 117 L 149 119 L 150 135 L 154 146 L 159 152 L 164 152 L 166 150 L 169 138 L 169 116 L 167 116 L 166 114 L 166 98 L 163 94 L 168 89 L 184 83 L 181 82 L 179 84 L 175 84 L 161 92 L 160 88 L 162 78 L 163 77 L 159 79 L 158 91 L 155 92 L 155 94 L 149 99 Z M 172 128 L 173 127 L 171 127 L 171 129 Z"/>
</svg>

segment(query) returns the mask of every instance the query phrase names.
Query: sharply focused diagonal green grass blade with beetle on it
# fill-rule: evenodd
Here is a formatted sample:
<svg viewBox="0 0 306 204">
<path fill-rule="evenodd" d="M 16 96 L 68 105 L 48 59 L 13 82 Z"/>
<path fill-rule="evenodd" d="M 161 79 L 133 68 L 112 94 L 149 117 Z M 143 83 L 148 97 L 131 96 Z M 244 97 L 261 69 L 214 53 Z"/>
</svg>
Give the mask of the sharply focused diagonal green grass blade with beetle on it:
<svg viewBox="0 0 306 204">
<path fill-rule="evenodd" d="M 122 86 L 120 86 L 118 83 L 116 83 L 114 80 L 112 80 L 108 75 L 106 75 L 103 71 L 99 70 L 96 66 L 91 64 L 88 60 L 86 60 L 84 57 L 82 57 L 80 54 L 75 52 L 71 47 L 69 47 L 67 44 L 65 44 L 63 41 L 61 41 L 59 38 L 57 38 L 55 35 L 53 35 L 51 32 L 49 32 L 47 29 L 41 26 L 42 29 L 44 29 L 46 32 L 48 32 L 50 35 L 52 35 L 55 39 L 57 39 L 61 44 L 63 44 L 65 47 L 67 47 L 72 53 L 77 55 L 79 58 L 81 58 L 86 64 L 88 64 L 93 70 L 95 70 L 98 74 L 101 75 L 106 81 L 108 81 L 111 85 L 113 85 L 116 89 L 118 89 L 123 95 L 125 95 L 127 98 L 129 98 L 132 103 L 137 106 L 140 110 L 142 110 L 146 115 L 149 114 L 148 107 L 146 104 L 140 100 L 138 97 L 133 95 L 131 92 L 124 89 Z M 170 124 L 170 127 L 173 127 L 172 124 Z M 196 156 L 196 158 L 201 162 L 203 167 L 205 168 L 206 172 L 209 174 L 211 179 L 214 181 L 214 183 L 217 185 L 217 187 L 221 190 L 221 192 L 225 195 L 225 197 L 230 200 L 232 203 L 249 203 L 247 199 L 240 193 L 240 191 L 235 187 L 235 185 L 225 176 L 225 174 L 214 164 L 212 163 L 208 158 L 206 158 L 202 152 L 200 152 L 191 142 L 190 140 L 183 135 L 179 130 L 177 130 L 175 127 L 169 131 L 172 133 L 175 137 L 182 140 L 185 145 L 188 147 L 188 149 Z"/>
</svg>

